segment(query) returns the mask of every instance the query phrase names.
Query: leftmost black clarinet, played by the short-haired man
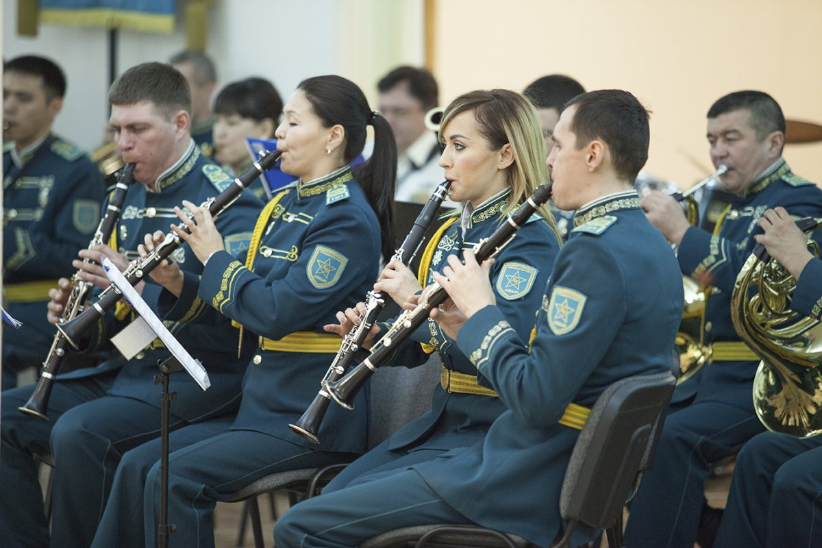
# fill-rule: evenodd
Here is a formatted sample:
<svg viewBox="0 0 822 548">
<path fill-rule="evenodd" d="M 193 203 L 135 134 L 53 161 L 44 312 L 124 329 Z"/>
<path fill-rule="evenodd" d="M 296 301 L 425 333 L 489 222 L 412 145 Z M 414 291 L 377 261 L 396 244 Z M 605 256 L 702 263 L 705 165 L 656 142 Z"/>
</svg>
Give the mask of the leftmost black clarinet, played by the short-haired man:
<svg viewBox="0 0 822 548">
<path fill-rule="evenodd" d="M 109 200 L 109 205 L 106 207 L 103 219 L 100 220 L 94 237 L 91 238 L 89 247 L 97 246 L 99 244 L 108 242 L 114 227 L 117 226 L 117 219 L 120 216 L 120 208 L 122 203 L 126 200 L 126 192 L 128 187 L 134 182 L 134 164 L 129 163 L 122 169 L 114 187 L 114 191 Z M 88 264 L 90 259 L 85 258 L 83 262 Z M 80 278 L 82 270 L 72 276 L 72 292 L 68 296 L 66 307 L 60 315 L 60 324 L 64 324 L 72 320 L 79 312 L 83 310 L 86 299 L 89 297 L 92 283 L 85 282 Z M 48 350 L 48 355 L 43 362 L 43 371 L 40 372 L 40 378 L 35 386 L 35 391 L 31 394 L 29 401 L 19 409 L 21 412 L 28 413 L 34 417 L 38 417 L 48 421 L 46 410 L 48 410 L 48 398 L 51 397 L 51 390 L 54 384 L 54 377 L 60 371 L 62 357 L 66 355 L 67 341 L 66 338 L 58 330 L 54 334 L 52 346 Z"/>
</svg>

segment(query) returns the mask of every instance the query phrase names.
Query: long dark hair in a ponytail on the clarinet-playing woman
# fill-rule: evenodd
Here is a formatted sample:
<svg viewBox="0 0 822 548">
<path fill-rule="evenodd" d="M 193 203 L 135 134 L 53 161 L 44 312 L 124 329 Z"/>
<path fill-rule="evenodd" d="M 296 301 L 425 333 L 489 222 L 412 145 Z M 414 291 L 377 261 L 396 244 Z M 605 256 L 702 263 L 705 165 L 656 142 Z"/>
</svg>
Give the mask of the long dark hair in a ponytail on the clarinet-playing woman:
<svg viewBox="0 0 822 548">
<path fill-rule="evenodd" d="M 345 130 L 345 163 L 363 152 L 366 128 L 374 127 L 374 152 L 367 162 L 354 170 L 368 204 L 380 222 L 382 256 L 389 260 L 394 254 L 394 185 L 397 177 L 397 145 L 394 134 L 379 114 L 368 107 L 368 100 L 358 85 L 342 76 L 314 76 L 300 82 L 302 90 L 314 108 L 314 113 L 332 127 L 339 124 Z"/>
</svg>

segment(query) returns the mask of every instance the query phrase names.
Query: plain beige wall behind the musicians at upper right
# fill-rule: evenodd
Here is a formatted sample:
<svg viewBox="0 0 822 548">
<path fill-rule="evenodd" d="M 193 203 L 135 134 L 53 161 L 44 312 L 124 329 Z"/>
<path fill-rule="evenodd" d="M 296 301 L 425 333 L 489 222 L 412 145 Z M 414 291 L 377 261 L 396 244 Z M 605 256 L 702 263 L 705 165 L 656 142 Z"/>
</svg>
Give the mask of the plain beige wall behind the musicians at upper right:
<svg viewBox="0 0 822 548">
<path fill-rule="evenodd" d="M 683 187 L 713 171 L 705 113 L 723 94 L 763 90 L 822 124 L 820 0 L 437 0 L 435 21 L 443 104 L 553 72 L 630 90 L 653 111 L 646 172 Z M 822 143 L 785 157 L 822 181 Z"/>
</svg>

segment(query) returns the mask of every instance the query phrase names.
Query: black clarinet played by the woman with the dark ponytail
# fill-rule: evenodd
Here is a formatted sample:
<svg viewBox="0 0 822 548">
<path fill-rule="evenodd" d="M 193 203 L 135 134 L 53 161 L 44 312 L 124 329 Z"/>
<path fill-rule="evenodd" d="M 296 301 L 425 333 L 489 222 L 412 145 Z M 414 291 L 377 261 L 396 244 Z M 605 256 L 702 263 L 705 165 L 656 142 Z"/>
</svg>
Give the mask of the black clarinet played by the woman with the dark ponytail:
<svg viewBox="0 0 822 548">
<path fill-rule="evenodd" d="M 232 205 L 234 200 L 237 200 L 240 193 L 252 182 L 260 177 L 261 173 L 274 167 L 274 164 L 279 159 L 281 152 L 266 152 L 261 155 L 259 159 L 244 172 L 240 173 L 239 177 L 235 178 L 233 183 L 220 192 L 217 196 L 212 196 L 205 200 L 200 207 L 207 207 L 212 217 L 221 214 L 229 205 Z M 191 219 L 191 216 L 189 216 Z M 182 231 L 188 233 L 188 227 L 182 228 Z M 132 260 L 128 268 L 122 273 L 128 283 L 136 285 L 145 275 L 149 274 L 151 270 L 155 269 L 162 260 L 171 255 L 180 245 L 182 241 L 177 234 L 169 232 L 155 247 L 154 251 L 143 259 Z M 106 288 L 99 294 L 98 300 L 88 308 L 86 308 L 80 315 L 77 315 L 73 320 L 58 324 L 57 329 L 67 339 L 68 343 L 74 348 L 79 348 L 81 338 L 89 332 L 91 327 L 95 325 L 97 320 L 103 317 L 106 311 L 112 308 L 120 300 L 120 292 L 113 285 Z"/>
</svg>

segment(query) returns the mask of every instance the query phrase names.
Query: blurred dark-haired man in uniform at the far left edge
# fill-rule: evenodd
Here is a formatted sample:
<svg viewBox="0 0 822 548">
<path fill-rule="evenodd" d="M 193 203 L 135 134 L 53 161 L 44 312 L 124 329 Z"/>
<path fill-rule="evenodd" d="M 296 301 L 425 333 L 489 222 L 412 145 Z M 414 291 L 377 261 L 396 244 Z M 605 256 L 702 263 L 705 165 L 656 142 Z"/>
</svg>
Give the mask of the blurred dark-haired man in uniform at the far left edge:
<svg viewBox="0 0 822 548">
<path fill-rule="evenodd" d="M 55 328 L 48 289 L 72 273 L 77 250 L 99 223 L 103 182 L 85 152 L 52 133 L 66 78 L 33 55 L 3 67 L 3 302 L 24 328 L 2 340 L 2 389 L 43 363 Z"/>
</svg>

